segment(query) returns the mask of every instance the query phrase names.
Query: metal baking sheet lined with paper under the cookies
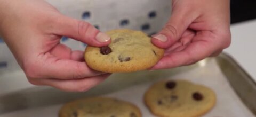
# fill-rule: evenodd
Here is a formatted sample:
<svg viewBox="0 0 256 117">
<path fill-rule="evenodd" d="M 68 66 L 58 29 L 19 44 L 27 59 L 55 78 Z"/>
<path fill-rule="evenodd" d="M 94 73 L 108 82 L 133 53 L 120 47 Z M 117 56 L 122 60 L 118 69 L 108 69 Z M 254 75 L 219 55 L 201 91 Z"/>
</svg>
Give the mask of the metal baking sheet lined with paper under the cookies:
<svg viewBox="0 0 256 117">
<path fill-rule="evenodd" d="M 217 94 L 217 103 L 204 117 L 254 117 L 256 114 L 256 83 L 231 57 L 222 53 L 192 66 L 113 74 L 84 93 L 37 87 L 5 94 L 0 96 L 0 117 L 57 117 L 65 102 L 90 96 L 129 101 L 141 109 L 143 116 L 153 117 L 143 103 L 143 94 L 150 85 L 166 79 L 186 79 L 212 88 Z"/>
</svg>

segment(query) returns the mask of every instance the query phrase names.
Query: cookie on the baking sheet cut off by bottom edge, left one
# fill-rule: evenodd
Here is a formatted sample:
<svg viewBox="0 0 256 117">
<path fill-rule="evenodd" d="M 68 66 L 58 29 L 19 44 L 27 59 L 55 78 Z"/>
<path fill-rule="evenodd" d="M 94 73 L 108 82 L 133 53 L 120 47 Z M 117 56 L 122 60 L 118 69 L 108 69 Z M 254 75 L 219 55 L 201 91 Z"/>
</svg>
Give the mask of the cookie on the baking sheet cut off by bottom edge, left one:
<svg viewBox="0 0 256 117">
<path fill-rule="evenodd" d="M 59 117 L 141 117 L 137 106 L 107 97 L 91 97 L 63 105 Z"/>
</svg>

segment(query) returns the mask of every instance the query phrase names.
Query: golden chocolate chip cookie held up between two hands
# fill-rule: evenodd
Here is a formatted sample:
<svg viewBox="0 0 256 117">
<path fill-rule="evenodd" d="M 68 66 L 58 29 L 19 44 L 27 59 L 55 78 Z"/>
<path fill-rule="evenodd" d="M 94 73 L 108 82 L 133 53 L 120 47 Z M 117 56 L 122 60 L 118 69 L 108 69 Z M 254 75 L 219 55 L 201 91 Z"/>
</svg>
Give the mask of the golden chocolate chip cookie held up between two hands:
<svg viewBox="0 0 256 117">
<path fill-rule="evenodd" d="M 87 65 L 106 73 L 132 72 L 153 67 L 164 55 L 151 43 L 150 37 L 141 31 L 128 29 L 106 32 L 111 43 L 106 47 L 87 47 Z"/>
</svg>

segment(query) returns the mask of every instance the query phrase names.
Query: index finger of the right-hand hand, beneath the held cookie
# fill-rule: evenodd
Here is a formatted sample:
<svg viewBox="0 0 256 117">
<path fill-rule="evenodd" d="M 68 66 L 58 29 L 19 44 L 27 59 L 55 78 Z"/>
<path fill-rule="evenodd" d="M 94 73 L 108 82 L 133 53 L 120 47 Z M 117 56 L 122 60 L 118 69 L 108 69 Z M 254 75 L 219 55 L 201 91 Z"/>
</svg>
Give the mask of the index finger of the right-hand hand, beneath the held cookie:
<svg viewBox="0 0 256 117">
<path fill-rule="evenodd" d="M 206 37 L 197 37 L 203 38 Z M 151 69 L 166 69 L 174 68 L 183 65 L 190 65 L 196 61 L 209 57 L 215 51 L 219 50 L 219 43 L 214 42 L 212 39 L 196 40 L 191 42 L 184 50 L 170 53 L 164 56 L 153 68 Z"/>
</svg>

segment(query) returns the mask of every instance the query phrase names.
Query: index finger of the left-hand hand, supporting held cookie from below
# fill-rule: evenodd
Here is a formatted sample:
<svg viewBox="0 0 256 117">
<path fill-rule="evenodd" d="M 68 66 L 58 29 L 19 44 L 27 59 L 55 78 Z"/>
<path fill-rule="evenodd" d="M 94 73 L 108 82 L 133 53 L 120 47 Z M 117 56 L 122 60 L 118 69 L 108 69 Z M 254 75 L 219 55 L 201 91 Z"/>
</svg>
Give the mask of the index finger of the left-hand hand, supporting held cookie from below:
<svg viewBox="0 0 256 117">
<path fill-rule="evenodd" d="M 102 73 L 89 68 L 83 61 L 60 59 L 46 53 L 41 60 L 32 64 L 27 71 L 30 78 L 79 79 L 98 76 Z"/>
</svg>

